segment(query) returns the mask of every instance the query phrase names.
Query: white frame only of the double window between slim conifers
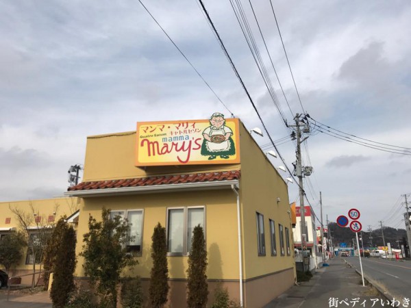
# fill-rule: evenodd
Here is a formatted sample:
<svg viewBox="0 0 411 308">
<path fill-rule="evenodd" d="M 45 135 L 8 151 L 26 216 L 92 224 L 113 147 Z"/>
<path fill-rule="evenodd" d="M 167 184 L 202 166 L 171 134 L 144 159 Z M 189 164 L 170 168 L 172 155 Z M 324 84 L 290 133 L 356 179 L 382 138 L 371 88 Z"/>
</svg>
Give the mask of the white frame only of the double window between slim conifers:
<svg viewBox="0 0 411 308">
<path fill-rule="evenodd" d="M 182 209 L 183 210 L 183 251 L 182 253 L 169 251 L 169 219 L 170 211 L 173 209 Z M 203 232 L 204 239 L 207 242 L 207 232 L 206 232 L 206 206 L 205 205 L 192 205 L 192 206 L 182 206 L 182 207 L 167 207 L 166 208 L 166 241 L 167 241 L 167 256 L 169 257 L 182 257 L 190 255 L 188 251 L 188 211 L 190 209 L 203 209 Z"/>
</svg>

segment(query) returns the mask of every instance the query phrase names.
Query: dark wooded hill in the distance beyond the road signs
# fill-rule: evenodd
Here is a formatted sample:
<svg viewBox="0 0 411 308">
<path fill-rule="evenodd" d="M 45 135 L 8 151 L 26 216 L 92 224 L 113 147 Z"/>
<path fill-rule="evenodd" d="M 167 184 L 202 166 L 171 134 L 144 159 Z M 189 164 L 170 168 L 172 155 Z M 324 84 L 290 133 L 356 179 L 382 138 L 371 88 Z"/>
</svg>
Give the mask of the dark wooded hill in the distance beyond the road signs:
<svg viewBox="0 0 411 308">
<path fill-rule="evenodd" d="M 351 229 L 339 227 L 338 224 L 336 224 L 336 222 L 330 222 L 328 227 L 329 231 L 331 231 L 334 246 L 337 246 L 340 243 L 346 243 L 347 247 L 353 246 L 353 240 L 356 241 L 356 234 L 353 233 Z M 403 244 L 404 247 L 406 246 L 406 229 L 394 229 L 391 227 L 384 227 L 383 231 L 386 246 L 387 243 L 390 243 L 391 247 L 393 248 L 401 247 L 401 244 Z M 361 235 L 362 240 L 364 242 L 364 248 L 371 247 L 371 244 L 372 247 L 384 246 L 381 229 L 375 229 L 371 232 L 361 231 L 360 233 L 358 233 L 359 239 Z M 360 246 L 361 245 L 362 243 L 360 241 Z"/>
</svg>

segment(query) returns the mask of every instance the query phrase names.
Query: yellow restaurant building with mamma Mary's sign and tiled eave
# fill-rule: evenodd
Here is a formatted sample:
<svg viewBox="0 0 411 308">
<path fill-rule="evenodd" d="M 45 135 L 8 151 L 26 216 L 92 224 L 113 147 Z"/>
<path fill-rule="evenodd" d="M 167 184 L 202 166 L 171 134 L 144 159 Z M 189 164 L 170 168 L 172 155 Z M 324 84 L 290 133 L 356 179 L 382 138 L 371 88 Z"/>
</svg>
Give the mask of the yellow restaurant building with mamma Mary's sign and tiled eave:
<svg viewBox="0 0 411 308">
<path fill-rule="evenodd" d="M 77 255 L 89 214 L 98 219 L 105 207 L 127 218 L 134 235 L 128 248 L 138 255 L 128 274 L 142 277 L 144 288 L 153 229 L 158 222 L 166 227 L 170 307 L 186 307 L 188 251 L 197 224 L 206 235 L 209 304 L 218 283 L 243 307 L 258 308 L 295 281 L 286 182 L 238 119 L 213 114 L 210 120 L 138 123 L 136 131 L 89 136 L 82 183 L 66 195 L 79 205 Z M 83 264 L 78 257 L 76 279 L 86 279 Z"/>
</svg>

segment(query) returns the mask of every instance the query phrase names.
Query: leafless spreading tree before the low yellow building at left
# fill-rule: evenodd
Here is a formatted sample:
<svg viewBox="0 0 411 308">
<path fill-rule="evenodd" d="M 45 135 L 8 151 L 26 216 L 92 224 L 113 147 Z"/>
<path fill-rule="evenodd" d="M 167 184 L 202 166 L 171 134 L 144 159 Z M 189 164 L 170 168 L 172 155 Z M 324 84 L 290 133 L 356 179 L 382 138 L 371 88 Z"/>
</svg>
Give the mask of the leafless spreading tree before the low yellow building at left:
<svg viewBox="0 0 411 308">
<path fill-rule="evenodd" d="M 29 258 L 33 263 L 32 288 L 36 286 L 36 264 L 39 264 L 39 272 L 41 272 L 43 251 L 53 231 L 58 207 L 58 203 L 55 203 L 53 221 L 49 221 L 48 216 L 46 219 L 45 215 L 40 215 L 40 212 L 34 208 L 32 202 L 29 203 L 28 211 L 9 204 L 9 209 L 16 216 L 21 231 L 25 233 L 27 240 L 27 254 L 29 254 Z M 40 275 L 38 278 L 40 279 Z"/>
</svg>

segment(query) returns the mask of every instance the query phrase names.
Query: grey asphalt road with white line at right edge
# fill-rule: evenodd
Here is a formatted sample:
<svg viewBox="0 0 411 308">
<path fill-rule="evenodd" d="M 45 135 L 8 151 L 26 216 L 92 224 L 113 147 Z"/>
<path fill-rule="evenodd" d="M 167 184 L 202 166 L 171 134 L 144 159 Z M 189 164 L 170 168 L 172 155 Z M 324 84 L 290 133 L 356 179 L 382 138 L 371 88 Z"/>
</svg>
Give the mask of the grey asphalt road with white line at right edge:
<svg viewBox="0 0 411 308">
<path fill-rule="evenodd" d="M 359 257 L 344 257 L 360 272 Z M 411 261 L 361 258 L 364 277 L 396 299 L 411 299 Z"/>
</svg>

